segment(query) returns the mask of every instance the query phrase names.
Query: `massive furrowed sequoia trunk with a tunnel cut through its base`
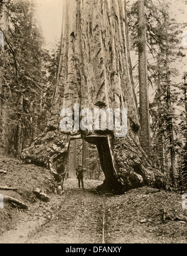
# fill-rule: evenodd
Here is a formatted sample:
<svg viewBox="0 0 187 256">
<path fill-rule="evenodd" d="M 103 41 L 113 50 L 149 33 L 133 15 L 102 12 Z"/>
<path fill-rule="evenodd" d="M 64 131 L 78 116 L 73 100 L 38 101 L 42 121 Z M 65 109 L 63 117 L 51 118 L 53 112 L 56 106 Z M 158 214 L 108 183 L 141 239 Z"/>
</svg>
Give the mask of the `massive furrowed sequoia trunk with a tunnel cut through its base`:
<svg viewBox="0 0 187 256">
<path fill-rule="evenodd" d="M 97 145 L 108 190 L 121 193 L 143 185 L 166 185 L 165 177 L 151 165 L 138 141 L 127 31 L 125 0 L 64 0 L 51 118 L 46 130 L 22 153 L 24 160 L 48 166 L 62 187 L 69 143 L 75 138 Z M 60 111 L 70 108 L 75 116 L 75 103 L 79 103 L 80 110 L 89 108 L 92 113 L 94 108 L 127 108 L 127 136 L 120 138 L 116 130 L 96 131 L 92 127 L 85 131 L 60 130 L 64 118 Z"/>
</svg>

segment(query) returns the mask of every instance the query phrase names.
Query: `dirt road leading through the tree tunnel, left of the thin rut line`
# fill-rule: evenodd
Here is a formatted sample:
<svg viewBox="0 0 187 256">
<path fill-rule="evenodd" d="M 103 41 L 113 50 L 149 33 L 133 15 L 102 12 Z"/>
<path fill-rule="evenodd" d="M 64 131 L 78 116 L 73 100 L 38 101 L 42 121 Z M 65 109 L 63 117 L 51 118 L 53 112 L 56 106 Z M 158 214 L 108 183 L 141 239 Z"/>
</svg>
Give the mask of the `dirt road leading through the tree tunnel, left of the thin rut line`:
<svg viewBox="0 0 187 256">
<path fill-rule="evenodd" d="M 22 213 L 22 221 L 4 233 L 0 243 L 101 243 L 103 198 L 90 183 L 85 182 L 84 192 L 76 188 L 77 180 L 68 180 L 64 195 L 41 202 L 29 215 Z"/>
</svg>

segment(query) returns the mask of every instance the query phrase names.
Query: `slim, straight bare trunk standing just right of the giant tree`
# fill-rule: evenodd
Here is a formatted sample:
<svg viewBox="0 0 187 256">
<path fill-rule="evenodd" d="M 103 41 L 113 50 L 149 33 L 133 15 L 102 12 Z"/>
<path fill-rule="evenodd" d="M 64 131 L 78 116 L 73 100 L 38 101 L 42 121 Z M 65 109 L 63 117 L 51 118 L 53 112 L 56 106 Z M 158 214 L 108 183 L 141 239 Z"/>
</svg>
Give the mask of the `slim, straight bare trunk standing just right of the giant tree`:
<svg viewBox="0 0 187 256">
<path fill-rule="evenodd" d="M 144 0 L 138 0 L 138 70 L 140 91 L 140 143 L 150 154 L 150 113 L 148 98 L 148 71 L 146 53 L 146 23 Z"/>
</svg>

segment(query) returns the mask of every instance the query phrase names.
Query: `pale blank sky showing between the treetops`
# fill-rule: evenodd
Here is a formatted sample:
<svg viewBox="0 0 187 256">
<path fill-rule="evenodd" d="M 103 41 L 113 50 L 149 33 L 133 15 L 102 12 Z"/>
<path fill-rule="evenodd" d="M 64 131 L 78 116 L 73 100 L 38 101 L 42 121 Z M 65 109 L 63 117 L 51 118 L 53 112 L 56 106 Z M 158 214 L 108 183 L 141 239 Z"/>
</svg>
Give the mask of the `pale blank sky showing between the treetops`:
<svg viewBox="0 0 187 256">
<path fill-rule="evenodd" d="M 55 43 L 60 41 L 60 34 L 62 29 L 62 1 L 64 0 L 33 0 L 36 4 L 36 18 L 39 22 L 43 36 L 45 38 L 46 44 L 44 47 L 46 49 L 51 49 Z M 90 0 L 92 1 L 92 0 Z M 136 0 L 129 0 L 133 3 Z M 187 23 L 187 0 L 161 0 L 171 3 L 170 14 L 172 18 L 180 23 Z M 183 28 L 186 31 L 187 36 L 187 26 Z M 181 37 L 182 39 L 182 37 Z M 187 38 L 186 38 L 187 42 Z M 181 44 L 182 46 L 182 44 Z M 183 76 L 184 72 L 187 72 L 187 45 L 186 47 L 186 57 L 183 61 L 176 61 L 173 63 L 177 66 L 180 75 Z M 132 53 L 132 64 L 137 61 L 137 56 Z M 178 82 L 178 81 L 177 81 Z"/>
</svg>

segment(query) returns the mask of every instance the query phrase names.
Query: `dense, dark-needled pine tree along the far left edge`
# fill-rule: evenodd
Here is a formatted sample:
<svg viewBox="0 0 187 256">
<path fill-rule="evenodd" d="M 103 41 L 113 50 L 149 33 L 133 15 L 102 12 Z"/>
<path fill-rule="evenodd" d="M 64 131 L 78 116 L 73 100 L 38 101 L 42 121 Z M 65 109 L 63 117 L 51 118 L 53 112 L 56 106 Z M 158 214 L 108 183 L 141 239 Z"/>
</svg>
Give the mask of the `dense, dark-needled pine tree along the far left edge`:
<svg viewBox="0 0 187 256">
<path fill-rule="evenodd" d="M 34 19 L 32 1 L 9 0 L 4 4 L 9 27 L 5 38 L 7 49 L 1 58 L 8 88 L 8 122 L 2 120 L 2 125 L 6 126 L 6 151 L 19 156 L 39 132 L 39 103 L 46 74 L 42 68 L 42 37 Z"/>
</svg>

